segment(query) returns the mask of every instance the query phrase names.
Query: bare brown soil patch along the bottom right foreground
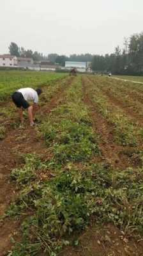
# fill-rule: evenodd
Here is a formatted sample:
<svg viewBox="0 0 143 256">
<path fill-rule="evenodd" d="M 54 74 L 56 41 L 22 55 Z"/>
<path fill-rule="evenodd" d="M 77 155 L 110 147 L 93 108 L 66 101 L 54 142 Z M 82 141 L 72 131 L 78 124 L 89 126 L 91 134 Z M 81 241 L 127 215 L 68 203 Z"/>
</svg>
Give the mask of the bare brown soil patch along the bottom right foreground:
<svg viewBox="0 0 143 256">
<path fill-rule="evenodd" d="M 64 248 L 59 256 L 142 256 L 143 241 L 126 237 L 114 225 L 92 225 L 78 238 L 78 246 Z"/>
</svg>

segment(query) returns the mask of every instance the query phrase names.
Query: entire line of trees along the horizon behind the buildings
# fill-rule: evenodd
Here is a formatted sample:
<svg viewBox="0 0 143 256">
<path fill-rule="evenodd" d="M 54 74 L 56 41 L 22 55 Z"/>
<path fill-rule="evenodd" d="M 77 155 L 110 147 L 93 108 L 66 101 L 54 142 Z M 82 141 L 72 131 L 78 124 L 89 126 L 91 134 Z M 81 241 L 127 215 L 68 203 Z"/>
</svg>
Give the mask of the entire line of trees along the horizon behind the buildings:
<svg viewBox="0 0 143 256">
<path fill-rule="evenodd" d="M 92 70 L 95 72 L 111 72 L 112 74 L 143 75 L 143 32 L 134 34 L 130 38 L 124 38 L 124 47 L 119 45 L 112 54 L 71 54 L 58 55 L 51 53 L 44 56 L 42 53 L 25 50 L 14 42 L 11 42 L 10 54 L 17 57 L 33 58 L 34 61 L 48 60 L 59 65 L 65 65 L 65 61 L 91 62 Z"/>
</svg>

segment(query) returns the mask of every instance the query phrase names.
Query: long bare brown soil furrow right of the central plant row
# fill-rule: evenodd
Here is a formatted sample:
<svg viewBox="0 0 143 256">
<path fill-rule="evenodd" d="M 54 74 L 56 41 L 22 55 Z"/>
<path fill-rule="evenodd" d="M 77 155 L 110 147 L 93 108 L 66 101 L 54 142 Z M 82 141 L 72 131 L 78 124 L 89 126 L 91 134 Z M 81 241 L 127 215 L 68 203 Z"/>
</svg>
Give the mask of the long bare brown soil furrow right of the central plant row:
<svg viewBox="0 0 143 256">
<path fill-rule="evenodd" d="M 121 157 L 121 152 L 125 147 L 119 146 L 114 142 L 113 125 L 109 124 L 107 120 L 98 112 L 96 104 L 92 102 L 87 90 L 87 78 L 82 78 L 84 102 L 89 108 L 89 115 L 93 121 L 93 129 L 101 138 L 99 142 L 100 150 L 102 151 L 103 159 L 107 163 L 112 164 L 115 168 L 125 169 L 132 165 L 130 157 L 125 154 Z"/>
</svg>

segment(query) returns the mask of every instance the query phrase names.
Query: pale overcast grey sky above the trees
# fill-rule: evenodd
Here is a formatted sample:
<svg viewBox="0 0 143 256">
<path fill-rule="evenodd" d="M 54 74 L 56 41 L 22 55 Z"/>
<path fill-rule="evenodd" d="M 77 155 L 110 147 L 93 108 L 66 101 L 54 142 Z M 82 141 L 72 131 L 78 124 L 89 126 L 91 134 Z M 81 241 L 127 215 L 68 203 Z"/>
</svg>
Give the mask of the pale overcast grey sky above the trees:
<svg viewBox="0 0 143 256">
<path fill-rule="evenodd" d="M 143 31 L 142 0 L 0 0 L 0 54 L 106 54 Z"/>
</svg>

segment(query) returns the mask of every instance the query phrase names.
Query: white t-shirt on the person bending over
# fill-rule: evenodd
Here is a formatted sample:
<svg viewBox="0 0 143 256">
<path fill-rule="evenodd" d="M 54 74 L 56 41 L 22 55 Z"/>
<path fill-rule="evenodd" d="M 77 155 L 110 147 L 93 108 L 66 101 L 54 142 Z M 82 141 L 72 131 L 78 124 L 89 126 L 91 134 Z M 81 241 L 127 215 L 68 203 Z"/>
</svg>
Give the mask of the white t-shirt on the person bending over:
<svg viewBox="0 0 143 256">
<path fill-rule="evenodd" d="M 26 101 L 32 100 L 34 103 L 38 103 L 38 93 L 33 88 L 22 88 L 17 92 L 22 93 Z"/>
</svg>

